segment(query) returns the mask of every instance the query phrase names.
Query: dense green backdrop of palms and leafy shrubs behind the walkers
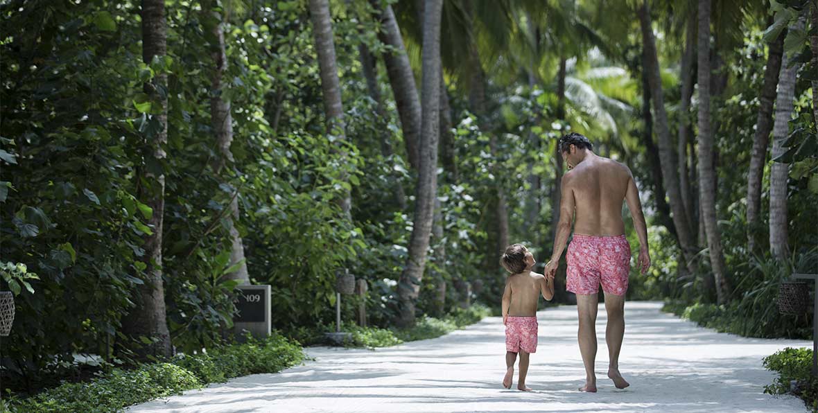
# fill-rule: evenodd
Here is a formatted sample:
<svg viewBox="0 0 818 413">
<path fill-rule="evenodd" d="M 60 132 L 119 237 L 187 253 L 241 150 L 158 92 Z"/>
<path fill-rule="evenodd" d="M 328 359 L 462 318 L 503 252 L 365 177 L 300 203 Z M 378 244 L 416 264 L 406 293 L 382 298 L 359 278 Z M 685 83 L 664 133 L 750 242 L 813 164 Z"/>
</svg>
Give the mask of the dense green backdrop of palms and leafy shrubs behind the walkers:
<svg viewBox="0 0 818 413">
<path fill-rule="evenodd" d="M 0 0 L 0 16 L 2 383 L 19 397 L 100 371 L 79 354 L 132 372 L 231 348 L 245 282 L 272 285 L 274 328 L 306 342 L 347 272 L 368 292 L 344 321 L 363 301 L 375 326 L 347 324 L 356 345 L 464 325 L 483 310 L 461 303 L 499 302 L 501 249 L 550 254 L 567 131 L 640 188 L 653 266 L 628 299 L 809 334 L 775 295 L 818 272 L 814 1 Z M 564 266 L 556 287 L 569 302 Z"/>
</svg>

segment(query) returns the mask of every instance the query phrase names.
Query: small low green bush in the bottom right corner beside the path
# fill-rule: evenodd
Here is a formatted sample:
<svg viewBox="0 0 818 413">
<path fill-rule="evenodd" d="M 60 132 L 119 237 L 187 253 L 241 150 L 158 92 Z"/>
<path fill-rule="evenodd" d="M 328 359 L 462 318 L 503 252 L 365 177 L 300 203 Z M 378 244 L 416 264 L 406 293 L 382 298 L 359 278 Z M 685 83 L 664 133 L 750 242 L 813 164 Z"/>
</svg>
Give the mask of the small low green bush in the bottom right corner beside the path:
<svg viewBox="0 0 818 413">
<path fill-rule="evenodd" d="M 811 377 L 811 349 L 784 348 L 764 357 L 764 367 L 779 374 L 772 384 L 764 387 L 764 393 L 789 393 L 790 382 L 795 380 L 798 385 L 794 394 L 811 406 L 812 411 L 818 411 L 818 380 Z"/>
</svg>

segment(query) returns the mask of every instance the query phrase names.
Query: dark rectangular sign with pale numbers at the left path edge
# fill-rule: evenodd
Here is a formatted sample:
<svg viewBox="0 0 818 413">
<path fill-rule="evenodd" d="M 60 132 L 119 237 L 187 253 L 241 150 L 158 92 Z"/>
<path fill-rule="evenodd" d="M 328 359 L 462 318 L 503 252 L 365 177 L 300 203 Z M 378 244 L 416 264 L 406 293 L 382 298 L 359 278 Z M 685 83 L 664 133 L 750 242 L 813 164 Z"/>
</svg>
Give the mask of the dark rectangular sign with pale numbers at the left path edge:
<svg viewBox="0 0 818 413">
<path fill-rule="evenodd" d="M 237 334 L 248 330 L 256 339 L 270 336 L 272 308 L 270 307 L 270 285 L 239 285 L 236 299 L 236 316 L 233 328 Z"/>
</svg>

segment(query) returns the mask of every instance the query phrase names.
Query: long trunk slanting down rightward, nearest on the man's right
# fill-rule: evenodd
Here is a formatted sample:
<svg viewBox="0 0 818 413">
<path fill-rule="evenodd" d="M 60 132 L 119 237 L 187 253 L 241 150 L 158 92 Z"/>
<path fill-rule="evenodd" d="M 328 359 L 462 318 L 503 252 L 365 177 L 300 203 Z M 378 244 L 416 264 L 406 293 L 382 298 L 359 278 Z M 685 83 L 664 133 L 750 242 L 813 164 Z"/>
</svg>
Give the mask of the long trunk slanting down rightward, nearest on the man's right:
<svg viewBox="0 0 818 413">
<path fill-rule="evenodd" d="M 654 122 L 657 129 L 659 159 L 662 164 L 662 179 L 667 190 L 667 198 L 670 201 L 670 208 L 673 213 L 673 225 L 676 227 L 676 234 L 681 245 L 682 259 L 685 260 L 685 267 L 688 272 L 694 272 L 694 244 L 690 220 L 685 212 L 685 205 L 681 200 L 681 189 L 676 167 L 676 152 L 673 150 L 670 137 L 670 128 L 667 125 L 667 112 L 664 108 L 664 97 L 662 92 L 662 78 L 659 73 L 658 56 L 656 55 L 656 42 L 654 32 L 650 22 L 650 11 L 647 2 L 642 3 L 639 10 L 640 25 L 642 29 L 642 42 L 645 47 L 645 63 L 648 67 L 645 70 L 648 74 L 650 94 L 654 106 Z M 701 66 L 699 66 L 699 71 Z M 658 195 L 661 196 L 661 195 Z"/>
</svg>

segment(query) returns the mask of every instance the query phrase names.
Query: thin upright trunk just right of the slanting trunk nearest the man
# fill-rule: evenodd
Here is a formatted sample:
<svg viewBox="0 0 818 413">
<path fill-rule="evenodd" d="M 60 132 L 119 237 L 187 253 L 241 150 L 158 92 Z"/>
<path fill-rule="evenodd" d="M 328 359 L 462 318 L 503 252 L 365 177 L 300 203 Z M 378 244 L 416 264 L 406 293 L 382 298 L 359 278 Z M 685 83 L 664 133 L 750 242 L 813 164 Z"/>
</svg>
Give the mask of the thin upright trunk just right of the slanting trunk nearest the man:
<svg viewBox="0 0 818 413">
<path fill-rule="evenodd" d="M 688 181 L 687 173 L 687 141 L 690 137 L 688 115 L 690 112 L 690 97 L 693 96 L 693 59 L 695 47 L 696 19 L 695 14 L 690 13 L 690 16 L 688 16 L 687 29 L 685 30 L 685 52 L 681 55 L 681 102 L 679 104 L 679 139 L 676 148 L 678 148 L 681 203 L 685 205 L 685 214 L 691 224 L 695 214 L 693 212 L 693 192 L 690 191 L 690 181 Z"/>
</svg>

